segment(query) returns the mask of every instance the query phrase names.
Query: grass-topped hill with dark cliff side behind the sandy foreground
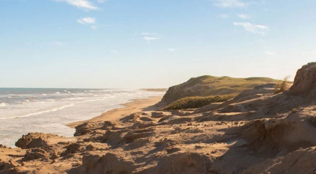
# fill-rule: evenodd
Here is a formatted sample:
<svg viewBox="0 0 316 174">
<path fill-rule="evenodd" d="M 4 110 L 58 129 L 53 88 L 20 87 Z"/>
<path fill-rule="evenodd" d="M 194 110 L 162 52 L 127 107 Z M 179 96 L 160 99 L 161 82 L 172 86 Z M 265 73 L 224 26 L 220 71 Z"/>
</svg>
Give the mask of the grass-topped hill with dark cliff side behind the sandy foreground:
<svg viewBox="0 0 316 174">
<path fill-rule="evenodd" d="M 164 107 L 183 97 L 238 95 L 243 90 L 249 90 L 258 84 L 276 83 L 272 78 L 231 78 L 200 76 L 187 82 L 170 87 L 158 106 Z"/>
</svg>

